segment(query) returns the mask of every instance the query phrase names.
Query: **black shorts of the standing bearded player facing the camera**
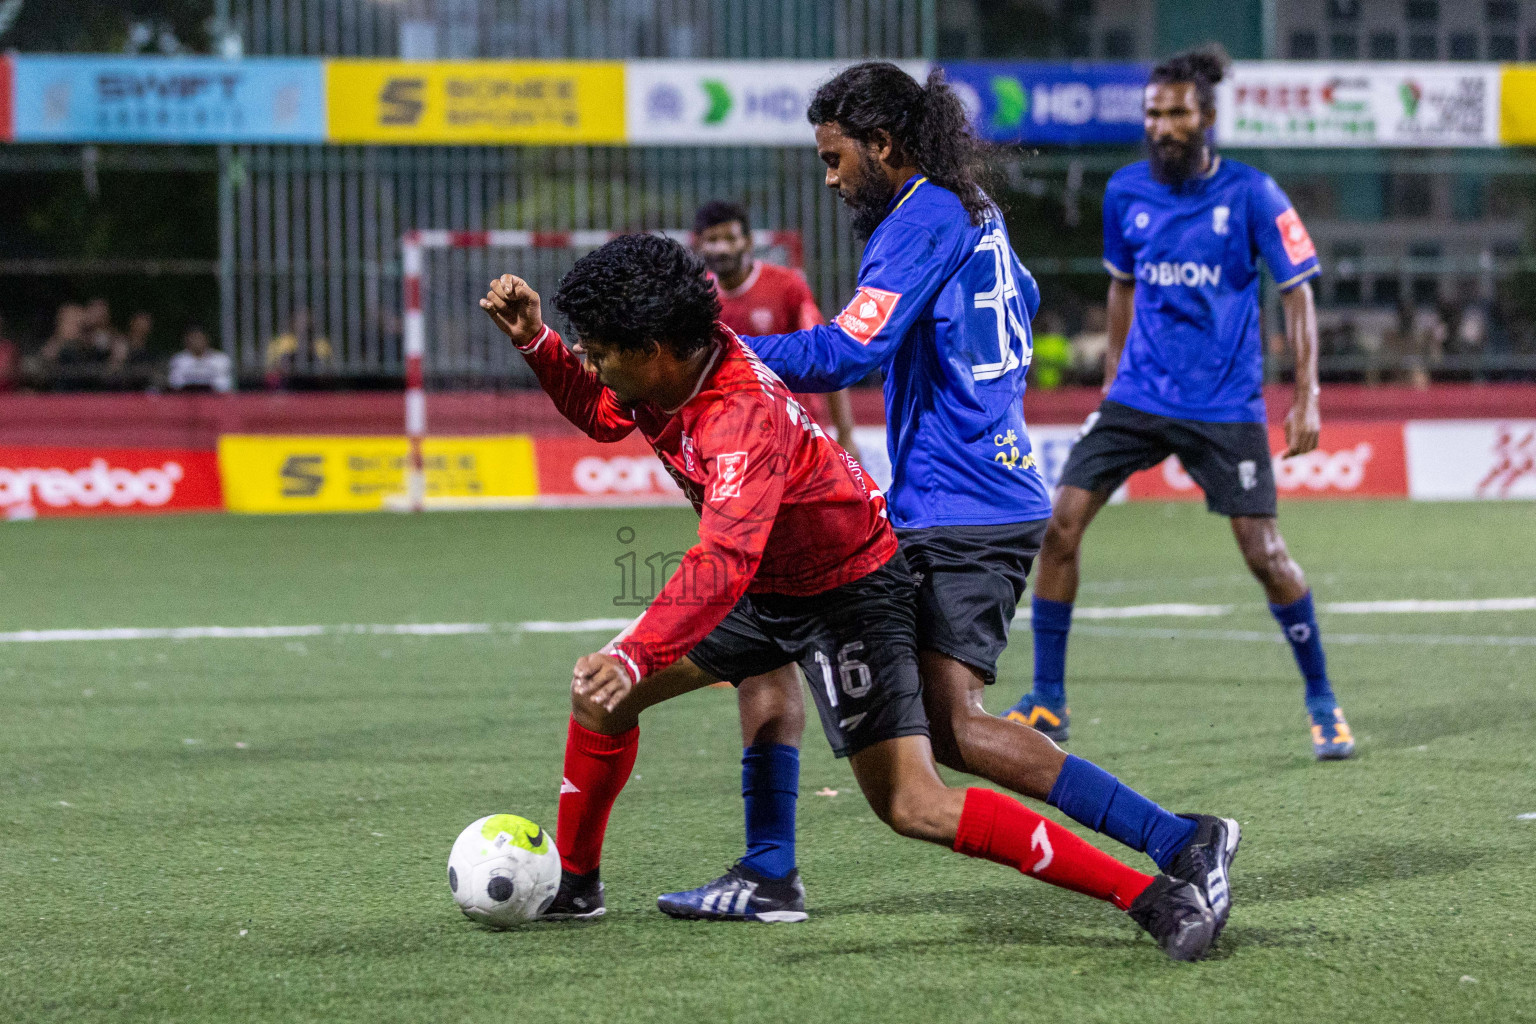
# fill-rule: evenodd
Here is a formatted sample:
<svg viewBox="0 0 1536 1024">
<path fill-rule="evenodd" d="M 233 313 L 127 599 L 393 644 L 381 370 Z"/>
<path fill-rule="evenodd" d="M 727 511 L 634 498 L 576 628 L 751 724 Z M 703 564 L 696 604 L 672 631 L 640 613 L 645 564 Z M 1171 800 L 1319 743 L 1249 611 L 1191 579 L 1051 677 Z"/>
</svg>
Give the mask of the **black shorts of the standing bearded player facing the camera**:
<svg viewBox="0 0 1536 1024">
<path fill-rule="evenodd" d="M 1170 454 L 1206 493 L 1220 516 L 1273 516 L 1275 467 L 1264 424 L 1207 424 L 1174 419 L 1106 401 L 1098 422 L 1083 434 L 1061 468 L 1061 484 L 1114 491 L 1137 470 Z"/>
</svg>

